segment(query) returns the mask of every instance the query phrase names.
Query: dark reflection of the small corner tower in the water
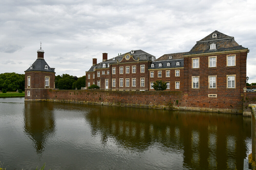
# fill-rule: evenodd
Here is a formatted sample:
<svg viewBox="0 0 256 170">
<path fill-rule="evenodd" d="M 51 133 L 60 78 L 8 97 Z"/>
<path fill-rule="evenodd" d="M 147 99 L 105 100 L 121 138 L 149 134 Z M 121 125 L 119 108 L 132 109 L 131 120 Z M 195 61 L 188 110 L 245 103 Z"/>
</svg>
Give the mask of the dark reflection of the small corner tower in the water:
<svg viewBox="0 0 256 170">
<path fill-rule="evenodd" d="M 42 153 L 47 139 L 55 135 L 53 105 L 48 102 L 25 102 L 24 130 L 33 141 L 37 153 Z"/>
</svg>

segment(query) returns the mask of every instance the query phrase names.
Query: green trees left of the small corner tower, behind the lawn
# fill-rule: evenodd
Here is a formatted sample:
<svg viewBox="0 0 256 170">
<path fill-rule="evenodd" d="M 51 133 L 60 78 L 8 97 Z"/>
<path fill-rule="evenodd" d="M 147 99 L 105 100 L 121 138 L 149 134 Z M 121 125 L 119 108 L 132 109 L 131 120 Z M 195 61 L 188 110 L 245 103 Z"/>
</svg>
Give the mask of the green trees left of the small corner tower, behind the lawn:
<svg viewBox="0 0 256 170">
<path fill-rule="evenodd" d="M 0 90 L 16 91 L 17 89 L 25 90 L 25 74 L 15 72 L 6 72 L 0 74 Z"/>
</svg>

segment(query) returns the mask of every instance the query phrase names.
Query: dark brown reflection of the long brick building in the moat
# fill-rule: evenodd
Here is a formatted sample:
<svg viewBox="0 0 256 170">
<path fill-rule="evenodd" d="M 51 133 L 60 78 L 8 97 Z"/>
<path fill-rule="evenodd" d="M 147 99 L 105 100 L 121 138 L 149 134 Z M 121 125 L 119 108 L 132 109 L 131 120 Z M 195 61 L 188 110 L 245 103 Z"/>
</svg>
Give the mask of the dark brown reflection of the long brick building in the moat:
<svg viewBox="0 0 256 170">
<path fill-rule="evenodd" d="M 102 143 L 111 138 L 137 152 L 157 143 L 164 152 L 183 153 L 188 169 L 242 169 L 247 156 L 250 119 L 240 115 L 106 106 L 86 114 L 86 120 L 93 136 L 101 134 Z"/>
</svg>

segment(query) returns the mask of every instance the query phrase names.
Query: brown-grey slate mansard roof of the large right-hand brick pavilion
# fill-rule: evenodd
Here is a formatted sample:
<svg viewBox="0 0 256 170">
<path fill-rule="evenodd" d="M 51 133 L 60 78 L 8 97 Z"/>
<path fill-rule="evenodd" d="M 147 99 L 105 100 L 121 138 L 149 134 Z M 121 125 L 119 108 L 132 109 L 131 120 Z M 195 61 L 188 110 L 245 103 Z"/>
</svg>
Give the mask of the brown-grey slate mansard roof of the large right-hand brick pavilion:
<svg viewBox="0 0 256 170">
<path fill-rule="evenodd" d="M 217 34 L 217 38 L 212 38 L 213 34 Z M 216 44 L 216 49 L 214 50 L 210 50 L 210 44 L 212 43 Z M 237 42 L 235 42 L 234 37 L 230 37 L 219 31 L 214 31 L 211 34 L 204 37 L 203 39 L 201 39 L 200 41 L 197 41 L 196 45 L 194 45 L 193 48 L 187 54 L 208 53 L 237 49 L 246 48 L 240 46 Z"/>
</svg>

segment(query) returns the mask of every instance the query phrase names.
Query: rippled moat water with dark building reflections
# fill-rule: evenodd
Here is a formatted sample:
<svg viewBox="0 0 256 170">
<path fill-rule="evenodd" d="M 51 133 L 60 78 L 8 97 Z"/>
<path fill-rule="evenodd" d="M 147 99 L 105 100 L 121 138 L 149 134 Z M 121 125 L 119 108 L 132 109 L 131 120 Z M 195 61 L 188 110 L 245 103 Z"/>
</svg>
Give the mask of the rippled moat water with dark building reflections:
<svg viewBox="0 0 256 170">
<path fill-rule="evenodd" d="M 11 169 L 243 169 L 251 118 L 0 98 L 0 161 Z"/>
</svg>

